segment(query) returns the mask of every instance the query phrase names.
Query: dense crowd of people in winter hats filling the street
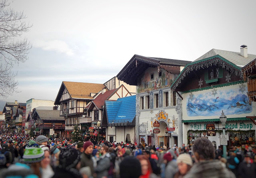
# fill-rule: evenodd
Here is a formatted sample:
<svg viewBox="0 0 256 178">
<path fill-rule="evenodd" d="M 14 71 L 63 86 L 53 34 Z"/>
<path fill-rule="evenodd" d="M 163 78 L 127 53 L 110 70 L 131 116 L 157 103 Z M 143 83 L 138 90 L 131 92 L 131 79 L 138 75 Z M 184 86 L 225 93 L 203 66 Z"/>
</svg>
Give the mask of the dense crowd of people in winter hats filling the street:
<svg viewBox="0 0 256 178">
<path fill-rule="evenodd" d="M 256 177 L 250 146 L 230 149 L 225 159 L 206 138 L 168 148 L 0 132 L 0 143 L 0 178 Z"/>
</svg>

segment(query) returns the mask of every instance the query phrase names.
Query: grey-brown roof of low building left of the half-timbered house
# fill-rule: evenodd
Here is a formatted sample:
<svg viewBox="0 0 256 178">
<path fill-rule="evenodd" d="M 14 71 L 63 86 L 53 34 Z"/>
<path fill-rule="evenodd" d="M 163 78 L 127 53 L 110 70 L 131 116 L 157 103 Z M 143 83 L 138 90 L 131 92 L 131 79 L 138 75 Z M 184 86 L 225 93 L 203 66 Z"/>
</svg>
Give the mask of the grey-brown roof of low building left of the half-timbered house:
<svg viewBox="0 0 256 178">
<path fill-rule="evenodd" d="M 65 120 L 64 117 L 60 117 L 60 111 L 58 110 L 36 110 L 35 113 L 38 114 L 41 120 Z"/>
</svg>

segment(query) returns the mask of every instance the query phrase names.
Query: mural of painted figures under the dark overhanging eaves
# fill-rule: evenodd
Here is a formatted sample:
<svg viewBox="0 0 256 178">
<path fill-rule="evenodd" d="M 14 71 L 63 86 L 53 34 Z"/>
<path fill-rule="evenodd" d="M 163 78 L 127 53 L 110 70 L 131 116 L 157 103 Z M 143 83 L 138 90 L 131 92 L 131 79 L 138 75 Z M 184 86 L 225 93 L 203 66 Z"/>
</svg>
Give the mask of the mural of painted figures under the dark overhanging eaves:
<svg viewBox="0 0 256 178">
<path fill-rule="evenodd" d="M 148 68 L 138 82 L 137 92 L 147 92 L 171 86 L 177 76 L 163 69 L 158 72 L 157 68 Z"/>
</svg>

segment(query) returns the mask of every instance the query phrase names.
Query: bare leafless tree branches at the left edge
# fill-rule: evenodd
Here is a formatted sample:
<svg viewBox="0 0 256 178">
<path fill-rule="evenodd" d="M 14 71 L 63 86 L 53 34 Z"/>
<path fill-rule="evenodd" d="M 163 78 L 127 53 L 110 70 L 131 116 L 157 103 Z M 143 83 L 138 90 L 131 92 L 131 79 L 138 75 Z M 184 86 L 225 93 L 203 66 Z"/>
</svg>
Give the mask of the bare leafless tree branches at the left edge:
<svg viewBox="0 0 256 178">
<path fill-rule="evenodd" d="M 31 27 L 25 22 L 26 15 L 14 11 L 9 5 L 6 0 L 0 0 L 0 96 L 4 98 L 18 92 L 17 73 L 12 68 L 14 64 L 28 59 L 31 48 L 26 38 L 21 39 Z"/>
</svg>

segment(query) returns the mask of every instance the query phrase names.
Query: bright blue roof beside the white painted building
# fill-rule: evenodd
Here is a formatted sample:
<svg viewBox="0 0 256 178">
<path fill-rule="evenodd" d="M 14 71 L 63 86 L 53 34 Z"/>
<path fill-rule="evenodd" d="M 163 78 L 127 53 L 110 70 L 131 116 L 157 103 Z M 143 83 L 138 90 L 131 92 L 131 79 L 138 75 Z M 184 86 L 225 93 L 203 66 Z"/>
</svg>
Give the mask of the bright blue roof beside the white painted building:
<svg viewBox="0 0 256 178">
<path fill-rule="evenodd" d="M 136 116 L 136 95 L 106 101 L 108 123 L 132 122 Z"/>
</svg>

